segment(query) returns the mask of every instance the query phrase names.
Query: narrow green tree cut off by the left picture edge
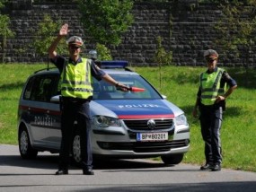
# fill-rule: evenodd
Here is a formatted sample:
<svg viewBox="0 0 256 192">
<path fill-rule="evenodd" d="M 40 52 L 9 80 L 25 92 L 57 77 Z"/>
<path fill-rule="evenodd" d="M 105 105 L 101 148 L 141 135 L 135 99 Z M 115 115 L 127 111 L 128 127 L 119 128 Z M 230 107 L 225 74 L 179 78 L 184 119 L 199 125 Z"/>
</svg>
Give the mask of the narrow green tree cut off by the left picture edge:
<svg viewBox="0 0 256 192">
<path fill-rule="evenodd" d="M 7 0 L 0 0 L 0 10 L 4 8 L 4 4 L 7 3 Z M 2 39 L 2 42 L 0 44 L 0 48 L 3 52 L 3 57 L 1 58 L 1 62 L 4 62 L 5 57 L 5 48 L 6 48 L 6 40 L 8 38 L 14 37 L 14 32 L 10 28 L 11 21 L 8 15 L 2 14 L 0 12 L 0 38 Z"/>
</svg>

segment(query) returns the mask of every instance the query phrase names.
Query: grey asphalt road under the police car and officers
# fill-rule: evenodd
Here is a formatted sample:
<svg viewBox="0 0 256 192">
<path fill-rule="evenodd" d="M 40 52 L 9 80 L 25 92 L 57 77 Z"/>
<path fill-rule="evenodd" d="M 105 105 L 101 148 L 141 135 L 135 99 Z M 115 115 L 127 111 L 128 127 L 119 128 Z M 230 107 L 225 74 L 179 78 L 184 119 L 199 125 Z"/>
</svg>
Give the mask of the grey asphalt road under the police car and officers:
<svg viewBox="0 0 256 192">
<path fill-rule="evenodd" d="M 94 176 L 71 166 L 69 175 L 55 176 L 57 154 L 39 153 L 22 160 L 18 146 L 0 145 L 0 191 L 207 191 L 255 192 L 256 173 L 239 170 L 202 171 L 199 166 L 166 167 L 150 160 L 97 160 Z"/>
</svg>

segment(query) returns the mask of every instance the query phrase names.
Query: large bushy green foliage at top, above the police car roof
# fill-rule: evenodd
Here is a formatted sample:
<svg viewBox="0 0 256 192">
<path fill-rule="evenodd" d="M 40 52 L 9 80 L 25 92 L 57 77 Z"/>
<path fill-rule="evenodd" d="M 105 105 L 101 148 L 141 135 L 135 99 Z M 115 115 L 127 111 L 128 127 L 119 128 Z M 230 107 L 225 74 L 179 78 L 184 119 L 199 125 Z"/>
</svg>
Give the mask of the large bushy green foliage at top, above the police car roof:
<svg viewBox="0 0 256 192">
<path fill-rule="evenodd" d="M 84 31 L 94 42 L 119 45 L 121 35 L 133 22 L 133 1 L 78 0 Z"/>
</svg>

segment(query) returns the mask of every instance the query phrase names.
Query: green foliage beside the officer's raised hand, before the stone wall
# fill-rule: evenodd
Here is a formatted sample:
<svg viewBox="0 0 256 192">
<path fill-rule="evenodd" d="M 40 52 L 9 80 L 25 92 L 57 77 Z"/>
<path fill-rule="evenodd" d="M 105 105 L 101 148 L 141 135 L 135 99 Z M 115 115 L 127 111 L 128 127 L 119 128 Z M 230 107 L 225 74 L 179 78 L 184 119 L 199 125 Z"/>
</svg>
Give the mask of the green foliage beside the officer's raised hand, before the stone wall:
<svg viewBox="0 0 256 192">
<path fill-rule="evenodd" d="M 33 47 L 40 56 L 47 56 L 49 46 L 52 41 L 57 38 L 57 33 L 61 27 L 62 22 L 54 22 L 48 14 L 44 15 L 42 22 L 38 24 L 38 31 L 36 38 L 33 41 Z M 62 39 L 57 46 L 58 53 L 66 53 L 66 42 Z"/>
</svg>

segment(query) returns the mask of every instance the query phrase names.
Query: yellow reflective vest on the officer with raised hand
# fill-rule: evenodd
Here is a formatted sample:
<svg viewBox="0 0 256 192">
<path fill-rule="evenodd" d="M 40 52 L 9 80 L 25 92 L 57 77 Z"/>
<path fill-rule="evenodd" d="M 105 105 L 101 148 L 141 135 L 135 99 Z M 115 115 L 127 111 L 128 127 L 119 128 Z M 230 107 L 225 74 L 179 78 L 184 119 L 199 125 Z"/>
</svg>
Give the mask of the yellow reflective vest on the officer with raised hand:
<svg viewBox="0 0 256 192">
<path fill-rule="evenodd" d="M 93 96 L 91 85 L 90 59 L 82 58 L 76 65 L 65 63 L 61 74 L 61 95 L 65 97 L 87 99 Z"/>
</svg>

